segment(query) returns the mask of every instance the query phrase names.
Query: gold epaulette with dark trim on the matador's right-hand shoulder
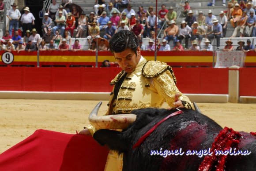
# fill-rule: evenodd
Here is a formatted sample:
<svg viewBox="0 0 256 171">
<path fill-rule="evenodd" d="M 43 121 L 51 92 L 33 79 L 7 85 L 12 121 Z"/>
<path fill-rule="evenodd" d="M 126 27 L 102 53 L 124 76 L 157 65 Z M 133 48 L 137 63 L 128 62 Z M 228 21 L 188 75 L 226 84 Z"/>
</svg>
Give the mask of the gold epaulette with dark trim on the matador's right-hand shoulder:
<svg viewBox="0 0 256 171">
<path fill-rule="evenodd" d="M 165 62 L 147 61 L 142 68 L 142 75 L 146 78 L 154 78 L 167 70 L 169 70 L 169 72 L 173 76 L 174 83 L 176 84 L 176 77 L 173 73 L 173 69 Z"/>
</svg>

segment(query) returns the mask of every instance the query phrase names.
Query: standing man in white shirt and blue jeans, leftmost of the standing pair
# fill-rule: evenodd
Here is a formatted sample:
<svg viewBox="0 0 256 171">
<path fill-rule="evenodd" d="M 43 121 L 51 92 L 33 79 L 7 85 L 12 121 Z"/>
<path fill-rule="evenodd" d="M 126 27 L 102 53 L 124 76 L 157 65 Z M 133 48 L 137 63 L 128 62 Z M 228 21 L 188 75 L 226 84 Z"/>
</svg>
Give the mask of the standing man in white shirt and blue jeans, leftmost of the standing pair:
<svg viewBox="0 0 256 171">
<path fill-rule="evenodd" d="M 13 3 L 11 5 L 11 9 L 7 12 L 6 16 L 9 18 L 9 35 L 12 35 L 12 28 L 14 28 L 14 31 L 17 31 L 19 29 L 19 18 L 21 17 L 21 14 L 17 8 L 17 5 Z"/>
</svg>

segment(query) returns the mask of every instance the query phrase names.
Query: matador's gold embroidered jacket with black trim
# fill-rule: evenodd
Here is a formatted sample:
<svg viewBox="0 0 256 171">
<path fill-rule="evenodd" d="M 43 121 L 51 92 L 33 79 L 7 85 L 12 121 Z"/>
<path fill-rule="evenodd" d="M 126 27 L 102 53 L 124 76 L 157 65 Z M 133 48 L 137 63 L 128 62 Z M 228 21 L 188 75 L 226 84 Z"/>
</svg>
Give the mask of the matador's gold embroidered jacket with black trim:
<svg viewBox="0 0 256 171">
<path fill-rule="evenodd" d="M 110 84 L 115 86 L 123 75 L 124 71 L 121 71 Z M 181 95 L 180 100 L 183 106 L 192 109 L 188 97 L 176 87 L 176 78 L 172 68 L 159 61 L 147 61 L 145 58 L 140 60 L 134 72 L 126 75 L 117 99 L 113 98 L 113 92 L 114 87 L 110 93 L 109 108 L 105 115 L 130 113 L 132 110 L 147 107 L 159 108 L 164 102 L 167 102 L 170 107 L 174 107 L 176 93 Z M 95 128 L 91 125 L 87 128 L 93 135 Z"/>
</svg>

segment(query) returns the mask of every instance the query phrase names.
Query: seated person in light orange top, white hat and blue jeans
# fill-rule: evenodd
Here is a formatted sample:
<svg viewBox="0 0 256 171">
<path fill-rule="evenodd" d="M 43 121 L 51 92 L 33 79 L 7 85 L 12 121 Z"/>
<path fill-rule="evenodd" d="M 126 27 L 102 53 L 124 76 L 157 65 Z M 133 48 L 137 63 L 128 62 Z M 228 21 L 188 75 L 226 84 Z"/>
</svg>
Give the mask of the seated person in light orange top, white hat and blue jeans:
<svg viewBox="0 0 256 171">
<path fill-rule="evenodd" d="M 167 27 L 164 30 L 164 36 L 165 39 L 169 42 L 170 40 L 173 40 L 173 46 L 175 45 L 175 42 L 177 40 L 177 36 L 179 33 L 179 28 L 177 25 L 175 25 L 175 22 L 172 20 L 169 22 L 169 27 Z"/>
</svg>

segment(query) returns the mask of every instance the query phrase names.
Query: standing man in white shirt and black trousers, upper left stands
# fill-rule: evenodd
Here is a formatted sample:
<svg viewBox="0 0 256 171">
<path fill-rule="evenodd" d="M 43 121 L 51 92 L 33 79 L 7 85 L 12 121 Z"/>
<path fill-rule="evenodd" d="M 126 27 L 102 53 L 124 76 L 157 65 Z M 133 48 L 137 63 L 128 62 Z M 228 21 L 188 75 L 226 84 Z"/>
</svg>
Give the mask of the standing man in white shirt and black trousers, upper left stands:
<svg viewBox="0 0 256 171">
<path fill-rule="evenodd" d="M 26 30 L 31 30 L 32 25 L 35 25 L 34 23 L 34 15 L 30 12 L 29 7 L 25 7 L 24 14 L 21 16 L 21 24 L 23 29 L 23 36 L 26 34 Z"/>
</svg>

